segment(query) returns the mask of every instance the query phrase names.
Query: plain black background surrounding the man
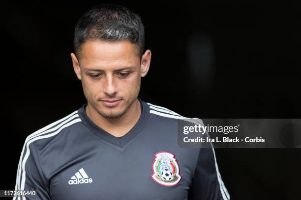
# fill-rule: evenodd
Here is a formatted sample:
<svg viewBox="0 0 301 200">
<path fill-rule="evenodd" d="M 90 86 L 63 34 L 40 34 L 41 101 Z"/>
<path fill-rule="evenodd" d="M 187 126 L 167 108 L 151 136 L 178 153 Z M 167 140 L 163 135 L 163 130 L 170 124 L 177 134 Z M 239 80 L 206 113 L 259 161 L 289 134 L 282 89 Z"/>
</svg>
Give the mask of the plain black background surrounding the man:
<svg viewBox="0 0 301 200">
<path fill-rule="evenodd" d="M 144 22 L 152 59 L 142 100 L 201 119 L 301 118 L 301 8 L 292 2 L 6 2 L 0 189 L 14 188 L 25 138 L 86 102 L 70 58 L 73 31 L 101 2 Z M 301 199 L 301 149 L 215 151 L 232 200 Z"/>
</svg>

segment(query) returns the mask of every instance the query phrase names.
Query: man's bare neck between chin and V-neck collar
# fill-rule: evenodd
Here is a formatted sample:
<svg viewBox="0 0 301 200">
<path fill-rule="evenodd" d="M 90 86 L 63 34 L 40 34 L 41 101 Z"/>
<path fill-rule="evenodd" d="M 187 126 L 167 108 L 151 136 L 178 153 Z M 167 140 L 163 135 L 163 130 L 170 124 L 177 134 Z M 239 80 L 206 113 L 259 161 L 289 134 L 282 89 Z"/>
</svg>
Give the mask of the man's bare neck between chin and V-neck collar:
<svg viewBox="0 0 301 200">
<path fill-rule="evenodd" d="M 114 119 L 104 118 L 89 103 L 86 112 L 95 125 L 115 137 L 121 137 L 138 122 L 141 115 L 141 107 L 139 100 L 136 99 L 121 117 Z"/>
</svg>

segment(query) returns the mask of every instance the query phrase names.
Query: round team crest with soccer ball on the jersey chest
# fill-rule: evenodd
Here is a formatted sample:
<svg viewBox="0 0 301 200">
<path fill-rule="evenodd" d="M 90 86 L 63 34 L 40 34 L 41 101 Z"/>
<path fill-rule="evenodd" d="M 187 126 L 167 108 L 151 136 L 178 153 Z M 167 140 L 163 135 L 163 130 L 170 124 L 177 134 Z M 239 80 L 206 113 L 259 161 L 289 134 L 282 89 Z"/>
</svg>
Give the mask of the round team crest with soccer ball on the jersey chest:
<svg viewBox="0 0 301 200">
<path fill-rule="evenodd" d="M 164 186 L 174 186 L 181 180 L 175 155 L 161 151 L 154 154 L 151 178 Z"/>
</svg>

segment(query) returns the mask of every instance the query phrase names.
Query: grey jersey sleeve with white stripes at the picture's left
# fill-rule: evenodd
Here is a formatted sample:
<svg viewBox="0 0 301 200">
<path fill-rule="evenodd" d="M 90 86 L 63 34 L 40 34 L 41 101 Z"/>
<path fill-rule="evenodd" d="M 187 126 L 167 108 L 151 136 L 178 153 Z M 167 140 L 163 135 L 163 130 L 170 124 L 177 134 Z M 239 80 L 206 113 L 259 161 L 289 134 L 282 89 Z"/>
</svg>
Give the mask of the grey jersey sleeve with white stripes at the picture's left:
<svg viewBox="0 0 301 200">
<path fill-rule="evenodd" d="M 15 189 L 35 190 L 35 196 L 19 196 L 13 200 L 51 200 L 49 187 L 42 174 L 39 157 L 34 144 L 24 148 L 19 161 Z M 20 172 L 20 173 L 19 173 Z"/>
</svg>

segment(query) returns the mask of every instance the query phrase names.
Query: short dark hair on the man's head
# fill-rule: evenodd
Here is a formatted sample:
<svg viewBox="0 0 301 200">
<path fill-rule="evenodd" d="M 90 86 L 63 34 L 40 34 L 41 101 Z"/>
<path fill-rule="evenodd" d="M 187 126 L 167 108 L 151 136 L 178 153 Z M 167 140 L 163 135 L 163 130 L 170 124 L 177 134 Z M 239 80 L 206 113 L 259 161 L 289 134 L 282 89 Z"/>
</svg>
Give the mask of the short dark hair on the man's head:
<svg viewBox="0 0 301 200">
<path fill-rule="evenodd" d="M 73 43 L 78 58 L 87 40 L 130 41 L 141 57 L 145 45 L 144 25 L 138 14 L 122 5 L 95 5 L 75 26 Z"/>
</svg>

